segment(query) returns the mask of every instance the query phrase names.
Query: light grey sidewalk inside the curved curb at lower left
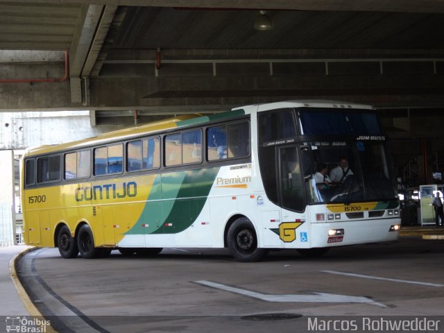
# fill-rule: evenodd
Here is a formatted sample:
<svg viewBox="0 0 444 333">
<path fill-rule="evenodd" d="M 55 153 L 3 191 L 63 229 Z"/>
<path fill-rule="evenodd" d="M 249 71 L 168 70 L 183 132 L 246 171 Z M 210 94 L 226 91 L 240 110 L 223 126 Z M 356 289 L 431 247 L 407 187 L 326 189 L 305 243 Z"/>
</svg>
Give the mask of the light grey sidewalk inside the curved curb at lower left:
<svg viewBox="0 0 444 333">
<path fill-rule="evenodd" d="M 0 316 L 28 316 L 9 271 L 10 260 L 31 246 L 0 248 Z"/>
</svg>

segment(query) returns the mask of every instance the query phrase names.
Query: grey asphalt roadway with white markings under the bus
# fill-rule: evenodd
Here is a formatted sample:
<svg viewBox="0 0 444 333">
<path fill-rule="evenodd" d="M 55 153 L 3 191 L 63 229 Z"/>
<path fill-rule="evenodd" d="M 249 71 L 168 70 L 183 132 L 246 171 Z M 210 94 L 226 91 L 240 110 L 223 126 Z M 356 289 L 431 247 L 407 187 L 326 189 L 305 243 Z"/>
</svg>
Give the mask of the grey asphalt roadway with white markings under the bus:
<svg viewBox="0 0 444 333">
<path fill-rule="evenodd" d="M 283 250 L 257 263 L 235 262 L 225 250 L 62 259 L 44 248 L 17 270 L 58 332 L 325 332 L 314 318 L 334 316 L 350 328 L 364 317 L 443 315 L 443 259 L 444 241 L 405 237 L 319 258 Z M 444 332 L 439 319 L 433 332 Z"/>
</svg>

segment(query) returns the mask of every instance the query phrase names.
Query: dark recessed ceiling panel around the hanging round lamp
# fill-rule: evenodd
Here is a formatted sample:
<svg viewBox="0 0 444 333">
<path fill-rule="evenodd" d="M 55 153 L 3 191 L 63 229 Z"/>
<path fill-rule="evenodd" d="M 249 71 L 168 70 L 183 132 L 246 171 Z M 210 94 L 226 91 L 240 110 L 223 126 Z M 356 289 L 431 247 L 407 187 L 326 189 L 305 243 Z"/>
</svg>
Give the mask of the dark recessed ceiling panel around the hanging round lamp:
<svg viewBox="0 0 444 333">
<path fill-rule="evenodd" d="M 257 10 L 131 7 L 115 49 L 439 49 L 443 15 L 422 12 L 268 10 L 275 28 L 255 31 Z"/>
</svg>

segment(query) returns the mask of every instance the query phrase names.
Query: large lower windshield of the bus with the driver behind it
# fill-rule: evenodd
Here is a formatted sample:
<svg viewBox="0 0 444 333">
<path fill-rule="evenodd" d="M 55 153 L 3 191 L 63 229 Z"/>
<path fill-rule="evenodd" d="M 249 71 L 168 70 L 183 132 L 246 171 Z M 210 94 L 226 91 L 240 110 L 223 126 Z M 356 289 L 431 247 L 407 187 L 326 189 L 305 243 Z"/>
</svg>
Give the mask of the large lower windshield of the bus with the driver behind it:
<svg viewBox="0 0 444 333">
<path fill-rule="evenodd" d="M 309 142 L 307 145 L 312 152 L 311 161 L 304 163 L 311 166 L 311 171 L 305 172 L 309 203 L 348 205 L 396 198 L 382 142 Z"/>
</svg>

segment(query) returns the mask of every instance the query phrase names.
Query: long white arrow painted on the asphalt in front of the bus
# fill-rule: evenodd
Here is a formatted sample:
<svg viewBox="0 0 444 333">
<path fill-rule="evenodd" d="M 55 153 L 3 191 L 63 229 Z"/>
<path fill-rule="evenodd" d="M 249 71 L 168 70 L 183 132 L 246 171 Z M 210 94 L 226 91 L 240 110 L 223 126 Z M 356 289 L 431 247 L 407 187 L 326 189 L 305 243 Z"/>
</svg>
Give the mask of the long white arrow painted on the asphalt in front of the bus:
<svg viewBox="0 0 444 333">
<path fill-rule="evenodd" d="M 358 297 L 358 296 L 345 296 L 335 295 L 333 293 L 316 293 L 313 295 L 267 295 L 265 293 L 257 293 L 255 291 L 249 291 L 237 287 L 226 286 L 211 281 L 195 281 L 198 284 L 202 284 L 207 287 L 216 289 L 222 289 L 230 291 L 231 293 L 239 293 L 240 295 L 258 298 L 259 300 L 265 300 L 267 302 L 309 302 L 309 303 L 368 303 L 372 305 L 378 305 L 380 307 L 386 307 L 381 303 L 375 302 L 370 298 Z"/>
</svg>

